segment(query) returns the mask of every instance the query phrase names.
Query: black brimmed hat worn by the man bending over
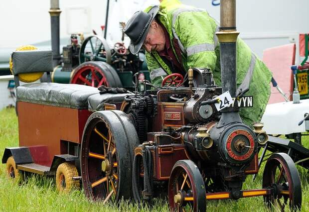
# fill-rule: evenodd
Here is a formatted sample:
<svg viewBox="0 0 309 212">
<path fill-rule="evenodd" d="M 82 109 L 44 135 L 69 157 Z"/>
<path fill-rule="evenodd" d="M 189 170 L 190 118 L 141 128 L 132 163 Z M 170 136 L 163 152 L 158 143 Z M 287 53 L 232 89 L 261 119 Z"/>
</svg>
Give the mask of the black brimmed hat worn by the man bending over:
<svg viewBox="0 0 309 212">
<path fill-rule="evenodd" d="M 144 11 L 138 11 L 128 21 L 124 32 L 131 39 L 130 51 L 132 54 L 137 54 L 142 48 L 146 39 L 147 33 L 151 26 L 152 21 L 156 13 L 159 10 L 159 6 L 153 6 L 148 13 Z"/>
</svg>

